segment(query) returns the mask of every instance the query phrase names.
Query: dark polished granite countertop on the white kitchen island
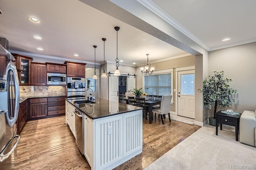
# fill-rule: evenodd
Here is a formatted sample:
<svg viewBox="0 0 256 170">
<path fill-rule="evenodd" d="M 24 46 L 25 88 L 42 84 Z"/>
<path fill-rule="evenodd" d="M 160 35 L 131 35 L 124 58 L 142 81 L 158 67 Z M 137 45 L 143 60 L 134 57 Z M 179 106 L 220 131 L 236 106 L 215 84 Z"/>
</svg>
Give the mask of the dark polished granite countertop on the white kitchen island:
<svg viewBox="0 0 256 170">
<path fill-rule="evenodd" d="M 92 119 L 98 119 L 101 117 L 107 117 L 111 115 L 117 115 L 122 113 L 127 113 L 134 110 L 141 110 L 142 107 L 132 106 L 124 103 L 113 102 L 110 100 L 105 100 L 102 98 L 96 98 L 95 104 L 76 104 L 77 99 L 68 100 L 70 104 L 78 108 L 79 111 L 88 115 Z M 118 113 L 113 112 L 118 108 Z M 113 110 L 113 111 L 112 111 Z"/>
</svg>

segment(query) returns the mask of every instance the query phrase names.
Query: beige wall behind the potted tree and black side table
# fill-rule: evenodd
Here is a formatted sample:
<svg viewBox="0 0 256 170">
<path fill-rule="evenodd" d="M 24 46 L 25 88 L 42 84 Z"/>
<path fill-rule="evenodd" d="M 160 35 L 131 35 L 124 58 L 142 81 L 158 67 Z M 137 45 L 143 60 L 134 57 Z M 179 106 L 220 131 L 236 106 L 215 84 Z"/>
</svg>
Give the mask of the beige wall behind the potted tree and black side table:
<svg viewBox="0 0 256 170">
<path fill-rule="evenodd" d="M 225 77 L 233 80 L 231 87 L 238 91 L 235 96 L 237 105 L 231 107 L 236 112 L 255 111 L 255 47 L 256 42 L 209 52 L 209 74 L 213 70 L 224 70 Z"/>
</svg>

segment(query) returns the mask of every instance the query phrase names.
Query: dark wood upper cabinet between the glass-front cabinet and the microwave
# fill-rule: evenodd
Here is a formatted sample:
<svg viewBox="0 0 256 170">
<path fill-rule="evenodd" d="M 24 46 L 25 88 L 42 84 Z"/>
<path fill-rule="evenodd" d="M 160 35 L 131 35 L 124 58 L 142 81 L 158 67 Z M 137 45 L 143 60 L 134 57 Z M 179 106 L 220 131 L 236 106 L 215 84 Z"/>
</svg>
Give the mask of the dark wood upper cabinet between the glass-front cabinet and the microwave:
<svg viewBox="0 0 256 170">
<path fill-rule="evenodd" d="M 47 85 L 46 64 L 31 62 L 31 85 Z"/>
</svg>

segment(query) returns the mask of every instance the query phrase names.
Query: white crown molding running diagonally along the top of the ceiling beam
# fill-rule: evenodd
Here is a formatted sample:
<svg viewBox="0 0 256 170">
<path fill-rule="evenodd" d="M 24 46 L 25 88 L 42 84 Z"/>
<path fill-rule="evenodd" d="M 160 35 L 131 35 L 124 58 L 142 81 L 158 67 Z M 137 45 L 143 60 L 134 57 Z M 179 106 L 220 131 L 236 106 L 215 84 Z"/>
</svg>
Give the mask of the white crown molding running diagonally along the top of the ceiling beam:
<svg viewBox="0 0 256 170">
<path fill-rule="evenodd" d="M 172 25 L 174 28 L 178 29 L 184 35 L 198 43 L 198 45 L 202 46 L 207 51 L 210 50 L 210 47 L 203 43 L 200 39 L 198 39 L 195 35 L 193 35 L 190 31 L 188 31 L 185 27 L 183 27 L 180 23 L 174 20 L 171 16 L 169 16 L 166 12 L 164 12 L 161 8 L 159 8 L 154 2 L 151 0 L 137 0 L 140 4 L 148 8 L 154 14 L 162 18 L 164 21 Z"/>
</svg>

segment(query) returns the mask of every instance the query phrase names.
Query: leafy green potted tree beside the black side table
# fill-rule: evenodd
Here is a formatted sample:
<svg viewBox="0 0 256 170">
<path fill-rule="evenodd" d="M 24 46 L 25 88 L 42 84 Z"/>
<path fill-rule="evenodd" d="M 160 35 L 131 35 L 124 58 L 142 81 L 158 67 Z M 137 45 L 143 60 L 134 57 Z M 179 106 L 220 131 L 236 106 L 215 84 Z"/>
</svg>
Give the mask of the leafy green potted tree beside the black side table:
<svg viewBox="0 0 256 170">
<path fill-rule="evenodd" d="M 224 78 L 224 71 L 213 71 L 214 76 L 208 76 L 203 81 L 203 88 L 198 89 L 203 92 L 204 107 L 211 109 L 214 105 L 214 115 L 209 117 L 210 125 L 216 125 L 216 110 L 217 106 L 231 107 L 231 95 L 236 94 L 237 90 L 230 87 L 228 83 L 232 82 L 232 79 Z M 236 101 L 232 99 L 233 103 Z"/>
</svg>

